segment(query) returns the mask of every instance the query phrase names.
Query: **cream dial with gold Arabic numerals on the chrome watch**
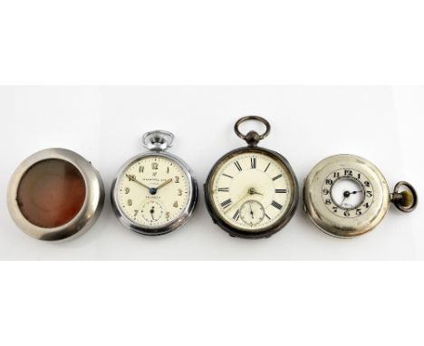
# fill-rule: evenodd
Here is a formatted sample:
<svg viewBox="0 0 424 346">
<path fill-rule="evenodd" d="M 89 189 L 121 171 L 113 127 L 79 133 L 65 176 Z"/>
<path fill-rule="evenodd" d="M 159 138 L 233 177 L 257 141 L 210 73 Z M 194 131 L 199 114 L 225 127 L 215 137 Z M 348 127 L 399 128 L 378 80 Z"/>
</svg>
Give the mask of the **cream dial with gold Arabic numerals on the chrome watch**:
<svg viewBox="0 0 424 346">
<path fill-rule="evenodd" d="M 116 188 L 123 215 L 145 228 L 167 226 L 178 220 L 190 198 L 184 169 L 175 160 L 156 155 L 131 162 Z"/>
</svg>

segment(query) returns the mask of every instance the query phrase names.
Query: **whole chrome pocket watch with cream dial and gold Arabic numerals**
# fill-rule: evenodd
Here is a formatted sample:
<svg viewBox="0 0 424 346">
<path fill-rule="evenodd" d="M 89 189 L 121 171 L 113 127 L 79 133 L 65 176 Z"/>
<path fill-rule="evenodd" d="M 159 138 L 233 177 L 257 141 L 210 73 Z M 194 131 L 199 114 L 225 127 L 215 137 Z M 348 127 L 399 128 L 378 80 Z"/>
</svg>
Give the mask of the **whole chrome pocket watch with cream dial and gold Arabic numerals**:
<svg viewBox="0 0 424 346">
<path fill-rule="evenodd" d="M 188 165 L 165 152 L 174 135 L 154 130 L 143 136 L 149 151 L 127 161 L 111 187 L 113 210 L 122 225 L 142 235 L 165 235 L 188 221 L 198 185 Z"/>
</svg>

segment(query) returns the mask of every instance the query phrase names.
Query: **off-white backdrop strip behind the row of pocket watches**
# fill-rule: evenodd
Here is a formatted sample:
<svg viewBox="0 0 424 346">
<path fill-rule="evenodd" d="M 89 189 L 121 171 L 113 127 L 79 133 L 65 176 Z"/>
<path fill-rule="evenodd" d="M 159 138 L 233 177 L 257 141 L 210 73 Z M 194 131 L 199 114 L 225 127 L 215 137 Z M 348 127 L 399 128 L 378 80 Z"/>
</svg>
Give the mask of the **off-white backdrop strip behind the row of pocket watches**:
<svg viewBox="0 0 424 346">
<path fill-rule="evenodd" d="M 232 238 L 213 225 L 203 199 L 209 168 L 244 145 L 235 121 L 257 114 L 271 122 L 262 146 L 288 159 L 303 187 L 313 165 L 334 154 L 370 159 L 389 181 L 422 183 L 424 88 L 405 87 L 0 87 L 0 258 L 34 260 L 361 260 L 424 259 L 422 207 L 394 207 L 376 230 L 353 240 L 324 235 L 300 206 L 280 233 L 265 240 Z M 200 187 L 186 226 L 160 237 L 120 226 L 111 211 L 111 181 L 144 149 L 141 134 L 170 130 L 170 150 L 186 160 Z M 64 243 L 36 241 L 14 226 L 5 191 L 14 168 L 35 151 L 63 147 L 101 172 L 107 200 L 100 220 Z"/>
</svg>

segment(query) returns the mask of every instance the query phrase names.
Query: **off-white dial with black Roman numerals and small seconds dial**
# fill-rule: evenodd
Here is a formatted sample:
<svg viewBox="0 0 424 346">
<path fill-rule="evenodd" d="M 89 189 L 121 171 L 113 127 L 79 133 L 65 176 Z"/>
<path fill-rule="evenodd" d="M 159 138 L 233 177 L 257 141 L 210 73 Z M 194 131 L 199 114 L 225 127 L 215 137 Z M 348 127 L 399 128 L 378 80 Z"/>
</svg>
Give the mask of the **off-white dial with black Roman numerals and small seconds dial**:
<svg viewBox="0 0 424 346">
<path fill-rule="evenodd" d="M 260 152 L 226 159 L 211 181 L 212 201 L 229 226 L 250 232 L 281 221 L 294 193 L 284 163 Z"/>
</svg>

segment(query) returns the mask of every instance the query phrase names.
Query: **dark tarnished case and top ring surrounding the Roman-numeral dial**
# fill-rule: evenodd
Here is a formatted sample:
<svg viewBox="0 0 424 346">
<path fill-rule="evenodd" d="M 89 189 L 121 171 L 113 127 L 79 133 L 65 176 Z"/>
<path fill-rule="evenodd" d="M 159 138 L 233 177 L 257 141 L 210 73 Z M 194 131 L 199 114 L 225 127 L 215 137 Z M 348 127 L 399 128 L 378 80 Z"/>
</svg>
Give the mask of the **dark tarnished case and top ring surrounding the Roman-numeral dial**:
<svg viewBox="0 0 424 346">
<path fill-rule="evenodd" d="M 258 134 L 255 131 L 250 131 L 246 135 L 241 133 L 239 130 L 239 126 L 240 124 L 242 124 L 243 122 L 247 120 L 256 120 L 256 121 L 262 122 L 266 128 L 265 133 L 262 135 Z M 236 121 L 234 130 L 236 132 L 236 135 L 239 138 L 246 140 L 247 147 L 235 149 L 228 152 L 221 159 L 218 159 L 217 163 L 210 170 L 209 175 L 207 177 L 207 181 L 204 186 L 207 211 L 212 217 L 212 220 L 214 221 L 214 223 L 217 224 L 217 226 L 221 227 L 223 230 L 225 230 L 229 235 L 240 237 L 240 238 L 246 238 L 246 239 L 268 238 L 272 235 L 275 235 L 275 233 L 277 233 L 278 231 L 280 231 L 285 225 L 287 225 L 287 223 L 294 216 L 294 212 L 296 211 L 298 201 L 299 201 L 299 185 L 297 182 L 297 178 L 294 175 L 293 168 L 290 166 L 287 159 L 285 159 L 282 155 L 269 149 L 257 147 L 257 144 L 259 143 L 259 141 L 262 139 L 265 139 L 265 137 L 268 136 L 271 130 L 271 126 L 267 120 L 256 115 L 246 116 Z M 275 222 L 274 225 L 265 227 L 264 229 L 255 230 L 255 232 L 248 232 L 245 229 L 235 227 L 226 223 L 226 221 L 219 216 L 219 213 L 217 211 L 217 208 L 215 206 L 215 203 L 212 197 L 212 191 L 213 191 L 212 182 L 214 180 L 215 174 L 217 173 L 218 169 L 221 167 L 222 164 L 226 162 L 227 159 L 230 159 L 231 157 L 236 156 L 238 154 L 242 154 L 242 153 L 261 153 L 263 155 L 270 156 L 271 158 L 277 161 L 281 161 L 281 163 L 287 169 L 290 175 L 290 178 L 292 178 L 292 184 L 293 184 L 292 186 L 293 195 L 289 201 L 290 207 L 287 208 L 287 211 L 284 213 L 284 215 L 281 216 L 279 220 Z"/>
</svg>

